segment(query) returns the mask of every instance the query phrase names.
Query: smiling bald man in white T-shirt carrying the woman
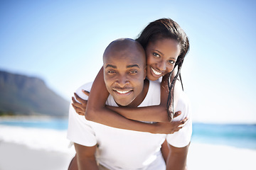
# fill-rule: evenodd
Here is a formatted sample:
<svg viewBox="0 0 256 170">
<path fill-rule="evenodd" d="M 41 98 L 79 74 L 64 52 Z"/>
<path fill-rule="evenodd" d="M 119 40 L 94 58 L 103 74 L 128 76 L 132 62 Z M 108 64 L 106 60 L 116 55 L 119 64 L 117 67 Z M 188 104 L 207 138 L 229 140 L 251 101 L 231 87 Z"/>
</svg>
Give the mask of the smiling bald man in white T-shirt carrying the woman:
<svg viewBox="0 0 256 170">
<path fill-rule="evenodd" d="M 110 93 L 107 105 L 142 107 L 160 103 L 160 84 L 145 79 L 145 54 L 138 42 L 115 40 L 106 48 L 103 63 L 105 84 Z M 91 84 L 85 84 L 80 89 L 90 91 L 90 87 Z M 187 116 L 186 106 L 181 113 Z M 161 145 L 166 135 L 90 122 L 70 107 L 68 139 L 75 142 L 79 169 L 166 169 L 170 164 L 184 169 L 190 137 L 191 123 L 167 136 L 172 146 L 165 164 Z"/>
</svg>

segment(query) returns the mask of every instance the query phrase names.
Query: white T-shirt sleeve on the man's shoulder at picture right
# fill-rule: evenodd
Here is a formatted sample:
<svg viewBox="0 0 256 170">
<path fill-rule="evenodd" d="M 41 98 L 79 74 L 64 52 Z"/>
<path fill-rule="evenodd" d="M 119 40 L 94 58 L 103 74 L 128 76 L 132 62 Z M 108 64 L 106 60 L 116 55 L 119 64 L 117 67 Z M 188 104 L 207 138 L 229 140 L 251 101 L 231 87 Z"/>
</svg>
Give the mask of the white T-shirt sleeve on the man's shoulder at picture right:
<svg viewBox="0 0 256 170">
<path fill-rule="evenodd" d="M 183 118 L 188 118 L 186 125 L 174 132 L 174 134 L 169 134 L 166 137 L 167 142 L 174 147 L 186 147 L 186 145 L 191 142 L 192 135 L 192 117 L 191 112 L 189 111 L 190 102 L 185 93 L 182 94 L 180 100 L 178 101 L 176 111 L 181 111 L 181 115 L 174 118 L 174 121 L 182 120 Z"/>
</svg>

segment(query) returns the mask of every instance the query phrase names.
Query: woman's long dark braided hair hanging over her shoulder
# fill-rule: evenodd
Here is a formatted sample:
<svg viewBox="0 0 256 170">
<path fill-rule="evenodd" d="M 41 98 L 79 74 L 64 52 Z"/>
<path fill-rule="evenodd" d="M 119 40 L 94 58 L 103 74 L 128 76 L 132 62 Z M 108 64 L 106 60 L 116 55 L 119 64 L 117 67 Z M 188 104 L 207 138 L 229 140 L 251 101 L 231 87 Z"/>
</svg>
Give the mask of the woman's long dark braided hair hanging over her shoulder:
<svg viewBox="0 0 256 170">
<path fill-rule="evenodd" d="M 186 33 L 182 30 L 182 28 L 176 23 L 175 21 L 171 20 L 170 18 L 161 18 L 159 20 L 153 21 L 149 23 L 142 33 L 139 34 L 139 38 L 137 41 L 141 43 L 144 50 L 146 50 L 146 46 L 149 42 L 155 42 L 156 40 L 162 39 L 173 39 L 178 42 L 181 47 L 181 52 L 178 55 L 176 63 L 174 65 L 174 69 L 178 67 L 178 72 L 172 79 L 171 73 L 169 74 L 168 79 L 168 100 L 167 100 L 167 113 L 169 115 L 169 120 L 173 120 L 174 118 L 174 85 L 176 83 L 176 79 L 179 77 L 181 80 L 181 66 L 183 64 L 184 57 L 186 56 L 189 50 L 189 41 Z M 181 81 L 181 86 L 183 89 L 183 84 Z"/>
</svg>

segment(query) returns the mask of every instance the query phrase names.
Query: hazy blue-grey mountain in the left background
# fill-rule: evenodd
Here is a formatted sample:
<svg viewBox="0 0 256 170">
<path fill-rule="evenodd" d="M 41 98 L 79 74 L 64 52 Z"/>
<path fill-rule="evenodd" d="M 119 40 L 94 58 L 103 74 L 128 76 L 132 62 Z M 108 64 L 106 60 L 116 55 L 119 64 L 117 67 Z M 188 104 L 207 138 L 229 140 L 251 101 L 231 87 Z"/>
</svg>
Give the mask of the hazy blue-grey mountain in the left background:
<svg viewBox="0 0 256 170">
<path fill-rule="evenodd" d="M 68 116 L 68 106 L 42 79 L 0 70 L 0 113 Z"/>
</svg>

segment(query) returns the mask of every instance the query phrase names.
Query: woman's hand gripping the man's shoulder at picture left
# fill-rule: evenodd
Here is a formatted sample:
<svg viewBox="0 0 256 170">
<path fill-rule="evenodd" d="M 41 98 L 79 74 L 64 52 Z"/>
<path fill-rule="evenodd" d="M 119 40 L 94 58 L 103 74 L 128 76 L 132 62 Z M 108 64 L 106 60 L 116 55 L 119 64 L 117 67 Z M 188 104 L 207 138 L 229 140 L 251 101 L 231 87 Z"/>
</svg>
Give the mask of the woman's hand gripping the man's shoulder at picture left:
<svg viewBox="0 0 256 170">
<path fill-rule="evenodd" d="M 82 93 L 84 93 L 87 96 L 90 95 L 89 91 L 82 90 Z M 75 99 L 77 99 L 80 103 L 75 101 Z M 75 93 L 75 98 L 72 97 L 72 101 L 73 101 L 72 106 L 75 109 L 75 112 L 78 113 L 79 115 L 85 115 L 87 100 L 84 100 L 84 99 L 80 98 L 78 96 L 78 94 Z"/>
</svg>

